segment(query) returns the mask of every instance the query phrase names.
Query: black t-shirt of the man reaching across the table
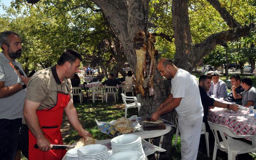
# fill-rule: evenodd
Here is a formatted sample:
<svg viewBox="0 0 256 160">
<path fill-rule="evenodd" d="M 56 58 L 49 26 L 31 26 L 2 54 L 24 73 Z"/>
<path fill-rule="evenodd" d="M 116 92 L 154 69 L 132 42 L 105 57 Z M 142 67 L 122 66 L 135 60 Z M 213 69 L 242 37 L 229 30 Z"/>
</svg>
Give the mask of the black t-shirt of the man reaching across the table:
<svg viewBox="0 0 256 160">
<path fill-rule="evenodd" d="M 207 116 L 208 116 L 208 109 L 209 106 L 213 106 L 214 103 L 214 99 L 209 97 L 206 93 L 206 91 L 201 87 L 199 87 L 199 91 L 200 91 L 200 97 L 201 97 L 201 101 L 202 101 L 202 105 L 204 108 L 204 117 L 203 117 L 203 122 L 206 123 L 206 125 L 208 124 L 207 122 Z"/>
</svg>

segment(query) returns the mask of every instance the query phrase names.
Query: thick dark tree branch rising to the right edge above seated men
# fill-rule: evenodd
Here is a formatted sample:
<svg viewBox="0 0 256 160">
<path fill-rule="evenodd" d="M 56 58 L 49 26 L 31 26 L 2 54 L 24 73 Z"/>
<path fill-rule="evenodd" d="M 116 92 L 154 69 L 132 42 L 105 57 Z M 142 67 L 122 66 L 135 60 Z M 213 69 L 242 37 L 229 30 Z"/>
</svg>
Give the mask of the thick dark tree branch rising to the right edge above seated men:
<svg viewBox="0 0 256 160">
<path fill-rule="evenodd" d="M 231 30 L 212 34 L 206 38 L 206 40 L 194 45 L 192 54 L 190 55 L 191 63 L 198 62 L 202 57 L 204 57 L 204 55 L 207 55 L 210 51 L 212 51 L 216 45 L 224 45 L 228 41 L 235 41 L 238 38 L 248 36 L 250 32 L 255 29 L 255 24 L 252 23 L 249 26 L 245 25 Z M 193 63 L 192 65 L 195 64 Z"/>
</svg>

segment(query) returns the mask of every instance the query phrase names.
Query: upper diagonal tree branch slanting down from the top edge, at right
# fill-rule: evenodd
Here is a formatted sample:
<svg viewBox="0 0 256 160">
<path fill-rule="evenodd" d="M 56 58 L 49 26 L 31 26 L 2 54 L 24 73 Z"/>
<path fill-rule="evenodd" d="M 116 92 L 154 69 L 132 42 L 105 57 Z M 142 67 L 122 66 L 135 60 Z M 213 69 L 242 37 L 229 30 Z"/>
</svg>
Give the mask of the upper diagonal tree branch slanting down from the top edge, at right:
<svg viewBox="0 0 256 160">
<path fill-rule="evenodd" d="M 219 13 L 230 28 L 236 28 L 240 24 L 229 14 L 226 8 L 222 8 L 218 0 L 207 0 Z"/>
</svg>

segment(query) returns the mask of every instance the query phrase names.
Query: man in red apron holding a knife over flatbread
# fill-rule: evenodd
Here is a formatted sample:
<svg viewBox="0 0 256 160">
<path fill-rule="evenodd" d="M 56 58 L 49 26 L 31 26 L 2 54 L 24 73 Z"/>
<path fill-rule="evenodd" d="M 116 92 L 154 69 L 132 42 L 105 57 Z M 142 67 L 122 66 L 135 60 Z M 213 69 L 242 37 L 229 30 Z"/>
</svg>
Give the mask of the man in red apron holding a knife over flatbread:
<svg viewBox="0 0 256 160">
<path fill-rule="evenodd" d="M 80 53 L 66 49 L 57 65 L 38 71 L 30 79 L 22 121 L 29 128 L 28 147 L 24 147 L 28 148 L 28 155 L 25 156 L 29 160 L 61 160 L 66 154 L 66 150 L 51 149 L 53 144 L 63 144 L 60 125 L 64 110 L 80 136 L 84 139 L 91 136 L 78 119 L 68 79 L 78 71 L 81 61 Z M 34 148 L 35 144 L 38 144 L 38 149 Z"/>
</svg>

